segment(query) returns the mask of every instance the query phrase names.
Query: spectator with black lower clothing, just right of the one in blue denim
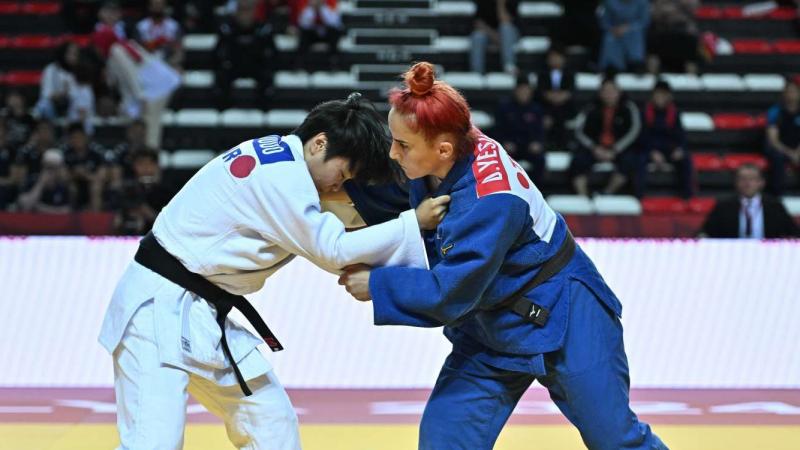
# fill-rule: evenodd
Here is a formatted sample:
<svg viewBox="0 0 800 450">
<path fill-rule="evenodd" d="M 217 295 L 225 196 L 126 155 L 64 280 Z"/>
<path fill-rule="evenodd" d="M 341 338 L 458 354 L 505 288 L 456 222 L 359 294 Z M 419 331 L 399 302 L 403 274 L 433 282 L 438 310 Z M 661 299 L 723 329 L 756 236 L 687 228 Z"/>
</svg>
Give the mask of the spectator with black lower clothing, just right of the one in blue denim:
<svg viewBox="0 0 800 450">
<path fill-rule="evenodd" d="M 699 0 L 654 0 L 647 31 L 647 69 L 651 73 L 697 73 L 699 37 L 694 11 Z"/>
</svg>

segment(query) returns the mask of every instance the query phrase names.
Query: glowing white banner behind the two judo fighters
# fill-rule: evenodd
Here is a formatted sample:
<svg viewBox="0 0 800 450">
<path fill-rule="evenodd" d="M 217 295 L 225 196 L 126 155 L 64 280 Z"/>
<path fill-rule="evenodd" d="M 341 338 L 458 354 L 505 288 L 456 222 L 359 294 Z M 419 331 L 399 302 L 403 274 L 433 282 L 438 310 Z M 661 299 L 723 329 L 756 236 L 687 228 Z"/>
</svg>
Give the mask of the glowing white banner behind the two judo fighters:
<svg viewBox="0 0 800 450">
<path fill-rule="evenodd" d="M 624 305 L 635 387 L 800 388 L 800 242 L 579 240 Z M 0 386 L 110 386 L 97 343 L 130 238 L 0 238 Z M 441 329 L 375 327 L 369 303 L 295 260 L 250 297 L 292 388 L 428 388 Z"/>
</svg>

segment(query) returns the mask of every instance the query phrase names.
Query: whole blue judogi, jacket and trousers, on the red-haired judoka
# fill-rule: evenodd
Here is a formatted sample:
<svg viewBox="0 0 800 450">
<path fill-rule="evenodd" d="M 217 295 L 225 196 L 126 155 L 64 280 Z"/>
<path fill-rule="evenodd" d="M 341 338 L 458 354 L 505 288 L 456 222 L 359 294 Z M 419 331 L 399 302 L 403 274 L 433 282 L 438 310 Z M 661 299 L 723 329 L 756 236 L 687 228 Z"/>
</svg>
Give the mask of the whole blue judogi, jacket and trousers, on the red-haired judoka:
<svg viewBox="0 0 800 450">
<path fill-rule="evenodd" d="M 376 325 L 444 326 L 453 343 L 422 418 L 420 449 L 492 448 L 535 379 L 589 448 L 666 448 L 630 410 L 621 305 L 580 248 L 526 295 L 550 311 L 545 326 L 490 310 L 530 281 L 568 233 L 499 144 L 481 136 L 434 192 L 424 180 L 409 189 L 413 206 L 430 195 L 452 198 L 425 236 L 431 269 L 376 268 L 370 291 Z"/>
</svg>

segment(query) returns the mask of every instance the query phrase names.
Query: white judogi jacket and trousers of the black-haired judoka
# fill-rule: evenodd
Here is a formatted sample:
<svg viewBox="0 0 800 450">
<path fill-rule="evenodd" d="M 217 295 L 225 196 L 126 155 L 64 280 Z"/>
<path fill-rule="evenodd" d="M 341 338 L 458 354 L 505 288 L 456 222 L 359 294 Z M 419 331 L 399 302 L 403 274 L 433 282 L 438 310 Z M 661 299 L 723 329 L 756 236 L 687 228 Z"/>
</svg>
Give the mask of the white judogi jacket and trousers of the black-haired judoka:
<svg viewBox="0 0 800 450">
<path fill-rule="evenodd" d="M 349 233 L 336 216 L 322 212 L 302 143 L 293 135 L 246 141 L 210 161 L 159 214 L 153 234 L 187 269 L 242 295 L 261 289 L 294 255 L 332 272 L 355 263 L 427 265 L 413 210 Z M 205 393 L 195 396 L 223 417 L 239 448 L 299 448 L 291 404 L 256 348 L 261 339 L 226 322 L 242 375 L 258 378 L 253 396 L 245 398 L 219 345 L 215 314 L 205 300 L 140 264 L 128 267 L 99 338 L 114 355 L 121 448 L 180 448 L 185 418 L 174 411 L 181 405 L 185 410 L 187 389 Z M 271 381 L 260 382 L 263 376 Z M 143 401 L 149 395 L 159 401 Z M 171 407 L 164 404 L 170 401 Z M 232 434 L 245 416 L 261 417 L 263 426 Z M 162 432 L 137 429 L 143 423 Z"/>
</svg>

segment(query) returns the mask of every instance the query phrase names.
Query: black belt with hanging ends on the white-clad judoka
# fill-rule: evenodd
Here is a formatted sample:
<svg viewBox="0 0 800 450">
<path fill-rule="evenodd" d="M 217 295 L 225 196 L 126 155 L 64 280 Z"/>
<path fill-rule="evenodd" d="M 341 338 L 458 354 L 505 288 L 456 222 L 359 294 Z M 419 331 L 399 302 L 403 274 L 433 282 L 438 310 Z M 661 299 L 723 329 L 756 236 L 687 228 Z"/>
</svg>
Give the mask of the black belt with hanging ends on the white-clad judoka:
<svg viewBox="0 0 800 450">
<path fill-rule="evenodd" d="M 233 372 L 236 374 L 236 380 L 239 381 L 239 386 L 241 386 L 244 395 L 251 395 L 252 391 L 247 387 L 247 383 L 231 355 L 228 340 L 225 338 L 225 318 L 231 308 L 236 308 L 244 314 L 273 352 L 283 350 L 278 338 L 270 331 L 253 305 L 243 296 L 231 294 L 203 278 L 203 276 L 190 272 L 177 258 L 158 243 L 152 232 L 147 233 L 139 242 L 139 250 L 136 251 L 136 256 L 133 259 L 187 291 L 195 293 L 217 308 L 217 324 L 222 330 L 222 339 L 220 341 L 222 351 L 230 361 Z"/>
</svg>

